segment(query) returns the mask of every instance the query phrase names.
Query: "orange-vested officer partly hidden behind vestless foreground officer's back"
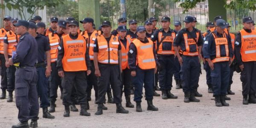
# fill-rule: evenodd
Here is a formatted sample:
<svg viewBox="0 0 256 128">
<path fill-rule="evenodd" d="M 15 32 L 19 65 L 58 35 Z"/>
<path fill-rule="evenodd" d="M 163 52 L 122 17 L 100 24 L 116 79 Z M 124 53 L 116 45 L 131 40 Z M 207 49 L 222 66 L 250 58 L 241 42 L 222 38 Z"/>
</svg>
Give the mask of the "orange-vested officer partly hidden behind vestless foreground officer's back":
<svg viewBox="0 0 256 128">
<path fill-rule="evenodd" d="M 9 58 L 11 58 L 12 56 L 12 51 L 14 49 L 14 47 L 17 45 L 18 43 L 18 39 L 20 37 L 20 35 L 16 35 L 15 33 L 15 26 L 13 26 L 13 24 L 17 23 L 18 18 L 12 18 L 11 19 L 11 27 L 12 30 L 8 31 L 4 37 L 4 44 L 3 44 L 3 51 L 4 51 L 4 57 L 5 60 L 9 60 Z M 5 66 L 7 67 L 7 91 L 9 92 L 9 97 L 7 99 L 7 102 L 12 102 L 13 101 L 13 94 L 12 92 L 14 91 L 14 87 L 15 87 L 15 71 L 16 68 L 15 66 L 10 66 L 8 64 L 8 61 L 5 61 Z"/>
</svg>

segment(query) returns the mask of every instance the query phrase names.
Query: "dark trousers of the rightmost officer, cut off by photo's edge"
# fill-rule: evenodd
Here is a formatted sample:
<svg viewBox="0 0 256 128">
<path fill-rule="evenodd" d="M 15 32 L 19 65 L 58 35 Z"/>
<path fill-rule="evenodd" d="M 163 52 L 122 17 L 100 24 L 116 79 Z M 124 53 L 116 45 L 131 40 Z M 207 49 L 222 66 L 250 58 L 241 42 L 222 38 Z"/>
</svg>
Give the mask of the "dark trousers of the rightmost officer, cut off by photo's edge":
<svg viewBox="0 0 256 128">
<path fill-rule="evenodd" d="M 249 95 L 256 93 L 256 61 L 243 62 L 244 69 L 241 72 L 242 94 Z"/>
</svg>

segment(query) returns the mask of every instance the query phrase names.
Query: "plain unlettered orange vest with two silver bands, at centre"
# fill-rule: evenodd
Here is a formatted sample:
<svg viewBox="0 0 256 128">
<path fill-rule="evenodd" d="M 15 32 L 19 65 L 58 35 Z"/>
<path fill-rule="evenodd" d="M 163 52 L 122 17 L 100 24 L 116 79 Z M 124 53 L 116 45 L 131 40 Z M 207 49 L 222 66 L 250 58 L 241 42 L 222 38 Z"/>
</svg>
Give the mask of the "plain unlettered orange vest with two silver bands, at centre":
<svg viewBox="0 0 256 128">
<path fill-rule="evenodd" d="M 142 43 L 139 39 L 132 41 L 137 48 L 137 65 L 143 70 L 154 69 L 156 67 L 153 41 L 148 41 L 148 43 Z"/>
</svg>

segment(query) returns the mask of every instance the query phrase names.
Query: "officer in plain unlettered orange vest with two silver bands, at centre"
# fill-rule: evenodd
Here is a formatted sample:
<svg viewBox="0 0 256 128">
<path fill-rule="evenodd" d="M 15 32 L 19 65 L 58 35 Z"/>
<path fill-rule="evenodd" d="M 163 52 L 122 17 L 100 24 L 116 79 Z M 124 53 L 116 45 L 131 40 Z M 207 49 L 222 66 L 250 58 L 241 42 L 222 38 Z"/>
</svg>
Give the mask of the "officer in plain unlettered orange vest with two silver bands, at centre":
<svg viewBox="0 0 256 128">
<path fill-rule="evenodd" d="M 146 38 L 146 29 L 143 26 L 137 27 L 138 38 L 132 41 L 128 53 L 128 63 L 131 69 L 131 76 L 134 77 L 134 101 L 136 112 L 142 112 L 141 99 L 143 84 L 147 100 L 147 110 L 158 111 L 153 105 L 153 84 L 154 73 L 156 72 L 156 52 L 153 41 Z"/>
</svg>

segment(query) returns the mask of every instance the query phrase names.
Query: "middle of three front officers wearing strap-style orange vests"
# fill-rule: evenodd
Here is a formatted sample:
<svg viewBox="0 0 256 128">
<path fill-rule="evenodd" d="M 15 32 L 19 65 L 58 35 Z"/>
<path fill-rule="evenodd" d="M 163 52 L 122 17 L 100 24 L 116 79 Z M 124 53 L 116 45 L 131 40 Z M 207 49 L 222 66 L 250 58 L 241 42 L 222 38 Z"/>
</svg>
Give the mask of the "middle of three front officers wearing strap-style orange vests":
<svg viewBox="0 0 256 128">
<path fill-rule="evenodd" d="M 199 62 L 201 49 L 202 49 L 202 37 L 200 31 L 193 27 L 194 19 L 191 16 L 186 16 L 184 23 L 185 27 L 174 40 L 173 46 L 176 56 L 179 59 L 181 65 L 181 80 L 183 81 L 182 87 L 184 92 L 184 102 L 200 102 L 195 98 L 196 86 L 199 81 Z M 182 55 L 180 56 L 178 46 L 181 47 Z"/>
</svg>

